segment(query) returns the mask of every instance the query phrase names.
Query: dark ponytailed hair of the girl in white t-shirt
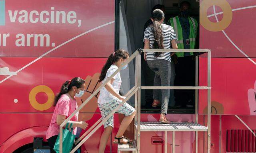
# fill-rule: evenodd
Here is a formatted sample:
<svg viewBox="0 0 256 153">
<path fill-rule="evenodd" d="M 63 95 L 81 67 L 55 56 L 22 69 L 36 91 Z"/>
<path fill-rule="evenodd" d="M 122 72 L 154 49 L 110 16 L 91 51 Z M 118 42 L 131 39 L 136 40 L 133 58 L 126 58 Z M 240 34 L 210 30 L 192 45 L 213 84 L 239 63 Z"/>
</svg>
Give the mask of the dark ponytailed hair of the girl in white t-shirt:
<svg viewBox="0 0 256 153">
<path fill-rule="evenodd" d="M 116 61 L 118 61 L 121 58 L 126 59 L 128 57 L 128 55 L 129 55 L 129 53 L 125 49 L 122 49 L 122 48 L 118 49 L 114 53 L 111 53 L 108 57 L 106 64 L 102 67 L 99 81 L 101 82 L 106 77 L 107 71 L 112 64 L 114 64 Z"/>
</svg>

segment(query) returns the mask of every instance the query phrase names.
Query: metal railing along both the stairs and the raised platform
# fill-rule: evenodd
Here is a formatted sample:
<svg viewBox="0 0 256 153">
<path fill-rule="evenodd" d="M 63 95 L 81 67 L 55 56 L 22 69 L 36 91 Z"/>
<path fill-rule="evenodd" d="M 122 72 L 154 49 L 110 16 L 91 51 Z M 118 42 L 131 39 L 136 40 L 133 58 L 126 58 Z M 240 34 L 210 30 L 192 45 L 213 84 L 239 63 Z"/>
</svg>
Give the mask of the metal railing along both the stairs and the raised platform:
<svg viewBox="0 0 256 153">
<path fill-rule="evenodd" d="M 208 85 L 207 86 L 141 86 L 141 53 L 142 52 L 201 52 L 201 53 L 208 53 Z M 135 123 L 137 124 L 137 130 L 134 132 L 134 138 L 137 142 L 137 151 L 140 152 L 140 97 L 141 97 L 141 89 L 178 89 L 178 90 L 208 90 L 208 122 L 207 122 L 207 133 L 208 133 L 208 153 L 210 153 L 210 90 L 211 90 L 211 51 L 210 49 L 138 49 L 136 50 L 132 56 L 121 66 L 119 67 L 105 82 L 103 82 L 79 107 L 76 111 L 74 111 L 61 125 L 60 125 L 60 153 L 62 153 L 62 130 L 64 125 L 77 113 L 81 110 L 91 99 L 93 96 L 98 94 L 98 92 L 109 82 L 119 71 L 121 71 L 122 67 L 126 64 L 130 63 L 134 58 L 136 58 L 136 66 L 135 66 L 135 86 L 125 95 L 126 98 L 106 117 L 104 120 L 99 119 L 93 126 L 91 126 L 76 142 L 76 147 L 70 151 L 70 153 L 74 153 L 93 133 L 95 133 L 100 126 L 106 122 L 130 97 L 135 94 L 135 109 L 136 109 L 136 116 L 134 118 Z M 198 59 L 198 57 L 197 57 Z M 198 61 L 197 61 L 198 63 Z M 198 72 L 198 69 L 196 69 Z M 198 77 L 196 77 L 198 78 Z M 196 83 L 196 85 L 198 85 Z M 197 92 L 196 92 L 197 93 Z M 196 98 L 197 95 L 196 95 Z M 196 102 L 196 122 L 198 122 L 198 104 Z M 167 135 L 167 133 L 165 133 Z M 174 135 L 174 132 L 173 132 Z M 84 138 L 84 139 L 83 139 Z M 198 135 L 196 131 L 196 153 L 197 149 L 197 142 Z M 174 141 L 174 137 L 173 137 Z M 167 146 L 165 146 L 167 148 Z M 175 147 L 172 147 L 172 152 L 175 152 Z"/>
</svg>

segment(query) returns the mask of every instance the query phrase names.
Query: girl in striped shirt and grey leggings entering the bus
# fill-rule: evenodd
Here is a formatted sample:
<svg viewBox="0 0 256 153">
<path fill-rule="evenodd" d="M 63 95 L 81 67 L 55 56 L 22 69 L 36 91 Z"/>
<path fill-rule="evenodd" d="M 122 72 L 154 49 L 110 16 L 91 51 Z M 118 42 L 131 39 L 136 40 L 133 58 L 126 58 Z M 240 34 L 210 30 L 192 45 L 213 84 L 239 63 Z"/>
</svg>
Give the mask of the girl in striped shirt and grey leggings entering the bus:
<svg viewBox="0 0 256 153">
<path fill-rule="evenodd" d="M 177 37 L 171 26 L 162 24 L 164 21 L 164 12 L 156 9 L 151 14 L 153 26 L 147 27 L 144 33 L 144 49 L 177 49 Z M 156 73 L 154 86 L 170 86 L 171 77 L 171 55 L 170 52 L 148 52 L 144 54 L 144 59 L 148 66 Z M 159 122 L 170 124 L 166 119 L 170 90 L 162 89 L 162 106 Z M 153 107 L 161 105 L 160 90 L 154 90 Z"/>
</svg>

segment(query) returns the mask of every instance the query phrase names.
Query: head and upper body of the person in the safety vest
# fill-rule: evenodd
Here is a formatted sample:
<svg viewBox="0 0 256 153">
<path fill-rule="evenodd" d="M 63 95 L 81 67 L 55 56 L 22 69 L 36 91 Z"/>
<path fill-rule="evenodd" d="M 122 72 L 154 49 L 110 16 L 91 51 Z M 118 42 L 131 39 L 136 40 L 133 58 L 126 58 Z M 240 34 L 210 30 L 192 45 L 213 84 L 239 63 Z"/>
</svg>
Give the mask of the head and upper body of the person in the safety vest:
<svg viewBox="0 0 256 153">
<path fill-rule="evenodd" d="M 194 18 L 188 16 L 189 8 L 189 2 L 182 2 L 180 4 L 180 16 L 170 18 L 167 23 L 174 28 L 178 37 L 177 45 L 179 49 L 194 49 L 196 46 L 198 23 Z M 176 55 L 177 57 L 184 57 L 184 52 L 176 53 Z M 193 53 L 190 53 L 190 55 L 193 55 Z"/>
</svg>

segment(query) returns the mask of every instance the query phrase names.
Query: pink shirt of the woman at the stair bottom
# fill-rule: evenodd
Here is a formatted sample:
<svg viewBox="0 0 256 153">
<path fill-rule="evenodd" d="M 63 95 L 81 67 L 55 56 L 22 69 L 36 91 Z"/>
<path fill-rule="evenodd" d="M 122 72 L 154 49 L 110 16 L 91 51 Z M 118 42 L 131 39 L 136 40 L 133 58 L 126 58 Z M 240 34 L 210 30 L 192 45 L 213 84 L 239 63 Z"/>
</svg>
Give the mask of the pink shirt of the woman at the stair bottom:
<svg viewBox="0 0 256 153">
<path fill-rule="evenodd" d="M 60 126 L 57 124 L 57 115 L 64 115 L 66 118 L 70 116 L 76 109 L 78 108 L 76 100 L 69 98 L 66 94 L 63 94 L 60 96 L 60 99 L 58 100 L 53 115 L 52 120 L 50 123 L 50 126 L 46 132 L 46 139 L 49 139 L 50 137 L 54 135 L 58 135 L 60 132 Z M 73 118 L 70 119 L 70 121 L 78 121 L 78 113 L 76 113 Z M 76 134 L 76 128 L 73 129 L 73 134 Z"/>
</svg>

